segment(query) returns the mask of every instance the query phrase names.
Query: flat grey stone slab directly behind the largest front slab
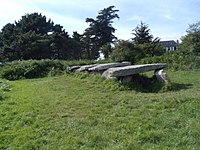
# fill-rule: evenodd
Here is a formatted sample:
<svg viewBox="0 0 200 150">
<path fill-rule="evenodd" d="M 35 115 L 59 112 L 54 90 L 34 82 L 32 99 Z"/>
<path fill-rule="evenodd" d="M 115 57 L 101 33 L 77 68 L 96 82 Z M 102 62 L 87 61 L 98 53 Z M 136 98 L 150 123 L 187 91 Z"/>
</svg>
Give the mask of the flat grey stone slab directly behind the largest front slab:
<svg viewBox="0 0 200 150">
<path fill-rule="evenodd" d="M 123 67 L 123 66 L 129 66 L 131 65 L 130 62 L 121 62 L 121 63 L 107 63 L 107 64 L 99 64 L 97 66 L 94 66 L 92 68 L 89 68 L 89 71 L 92 72 L 102 72 L 105 71 L 109 68 L 114 68 L 114 67 Z"/>
</svg>

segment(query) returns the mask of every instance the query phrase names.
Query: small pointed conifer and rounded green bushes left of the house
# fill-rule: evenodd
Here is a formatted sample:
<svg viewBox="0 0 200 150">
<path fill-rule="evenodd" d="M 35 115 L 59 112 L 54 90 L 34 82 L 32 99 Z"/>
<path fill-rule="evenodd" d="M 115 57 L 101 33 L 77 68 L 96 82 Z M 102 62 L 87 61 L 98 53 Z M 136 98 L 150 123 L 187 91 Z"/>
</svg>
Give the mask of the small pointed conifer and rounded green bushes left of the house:
<svg viewBox="0 0 200 150">
<path fill-rule="evenodd" d="M 141 22 L 134 30 L 133 41 L 119 41 L 115 44 L 111 58 L 117 61 L 136 63 L 146 57 L 160 56 L 165 53 L 159 39 L 153 39 L 148 25 Z"/>
</svg>

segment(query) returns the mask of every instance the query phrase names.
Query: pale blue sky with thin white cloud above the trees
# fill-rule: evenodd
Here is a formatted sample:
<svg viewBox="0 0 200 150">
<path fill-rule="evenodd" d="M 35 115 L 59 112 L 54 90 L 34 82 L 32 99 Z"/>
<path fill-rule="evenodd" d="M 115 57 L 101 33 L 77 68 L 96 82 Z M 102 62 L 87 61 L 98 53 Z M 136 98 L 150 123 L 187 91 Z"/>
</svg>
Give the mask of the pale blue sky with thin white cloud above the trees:
<svg viewBox="0 0 200 150">
<path fill-rule="evenodd" d="M 133 38 L 133 29 L 144 22 L 154 38 L 180 40 L 189 24 L 200 21 L 200 0 L 1 0 L 0 29 L 14 23 L 25 14 L 45 15 L 63 26 L 72 35 L 82 34 L 89 24 L 86 18 L 96 18 L 109 6 L 119 10 L 120 19 L 112 24 L 118 39 Z"/>
</svg>

